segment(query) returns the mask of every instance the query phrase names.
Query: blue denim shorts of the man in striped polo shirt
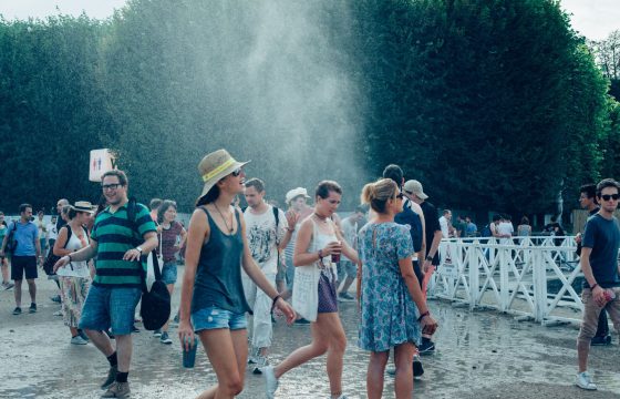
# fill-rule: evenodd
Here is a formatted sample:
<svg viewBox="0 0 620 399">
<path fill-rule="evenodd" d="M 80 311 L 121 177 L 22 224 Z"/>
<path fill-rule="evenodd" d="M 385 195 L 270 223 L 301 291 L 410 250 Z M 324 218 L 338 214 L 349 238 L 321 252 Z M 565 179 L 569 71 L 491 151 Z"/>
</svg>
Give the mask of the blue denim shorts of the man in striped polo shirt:
<svg viewBox="0 0 620 399">
<path fill-rule="evenodd" d="M 82 308 L 80 328 L 103 331 L 112 327 L 114 335 L 131 334 L 141 296 L 140 288 L 92 285 Z"/>
</svg>

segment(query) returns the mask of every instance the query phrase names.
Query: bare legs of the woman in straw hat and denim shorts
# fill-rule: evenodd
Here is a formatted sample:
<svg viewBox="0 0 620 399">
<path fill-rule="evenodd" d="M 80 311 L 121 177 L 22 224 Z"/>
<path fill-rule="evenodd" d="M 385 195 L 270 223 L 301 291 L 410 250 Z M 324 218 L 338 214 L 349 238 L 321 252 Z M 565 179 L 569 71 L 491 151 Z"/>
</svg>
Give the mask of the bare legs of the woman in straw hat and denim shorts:
<svg viewBox="0 0 620 399">
<path fill-rule="evenodd" d="M 200 393 L 197 399 L 227 399 L 239 395 L 244 390 L 246 374 L 247 331 L 218 328 L 203 330 L 199 335 L 218 383 Z"/>
</svg>

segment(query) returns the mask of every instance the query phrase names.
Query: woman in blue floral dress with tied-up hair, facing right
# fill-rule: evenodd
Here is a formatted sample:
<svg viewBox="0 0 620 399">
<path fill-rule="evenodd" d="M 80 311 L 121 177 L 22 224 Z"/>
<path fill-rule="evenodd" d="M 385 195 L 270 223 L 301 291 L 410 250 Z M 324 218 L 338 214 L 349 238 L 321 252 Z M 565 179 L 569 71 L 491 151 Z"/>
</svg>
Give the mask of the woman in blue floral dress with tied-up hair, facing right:
<svg viewBox="0 0 620 399">
<path fill-rule="evenodd" d="M 409 226 L 394 223 L 394 215 L 403 211 L 396 183 L 382 178 L 366 184 L 362 203 L 374 211 L 358 243 L 362 263 L 359 346 L 371 351 L 366 392 L 370 399 L 382 397 L 385 365 L 394 348 L 395 396 L 411 398 L 412 361 L 421 332 L 433 334 L 437 323 L 428 313 L 413 272 Z"/>
</svg>

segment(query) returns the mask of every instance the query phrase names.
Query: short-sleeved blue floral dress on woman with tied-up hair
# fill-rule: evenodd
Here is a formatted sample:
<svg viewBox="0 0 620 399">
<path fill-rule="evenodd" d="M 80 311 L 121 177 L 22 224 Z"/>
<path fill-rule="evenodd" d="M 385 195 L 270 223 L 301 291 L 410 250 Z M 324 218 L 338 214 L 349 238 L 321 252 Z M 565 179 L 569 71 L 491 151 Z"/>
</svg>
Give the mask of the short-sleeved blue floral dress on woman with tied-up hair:
<svg viewBox="0 0 620 399">
<path fill-rule="evenodd" d="M 385 351 L 403 342 L 420 344 L 418 311 L 402 278 L 399 259 L 413 255 L 409 226 L 366 224 L 359 234 L 362 297 L 359 346 Z"/>
</svg>

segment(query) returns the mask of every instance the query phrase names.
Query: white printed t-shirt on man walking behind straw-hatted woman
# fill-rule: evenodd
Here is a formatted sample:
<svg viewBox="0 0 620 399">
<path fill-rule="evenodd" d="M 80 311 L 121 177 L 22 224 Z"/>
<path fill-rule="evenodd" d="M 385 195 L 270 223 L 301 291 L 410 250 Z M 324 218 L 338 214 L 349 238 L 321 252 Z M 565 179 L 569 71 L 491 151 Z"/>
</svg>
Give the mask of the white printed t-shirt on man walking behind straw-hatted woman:
<svg viewBox="0 0 620 399">
<path fill-rule="evenodd" d="M 278 209 L 278 231 L 276 232 L 276 217 L 273 207 L 268 206 L 260 215 L 252 214 L 248 207 L 244 212 L 246 219 L 246 236 L 250 254 L 262 273 L 278 273 L 278 243 L 282 241 L 288 228 L 287 217 L 282 209 Z"/>
</svg>

